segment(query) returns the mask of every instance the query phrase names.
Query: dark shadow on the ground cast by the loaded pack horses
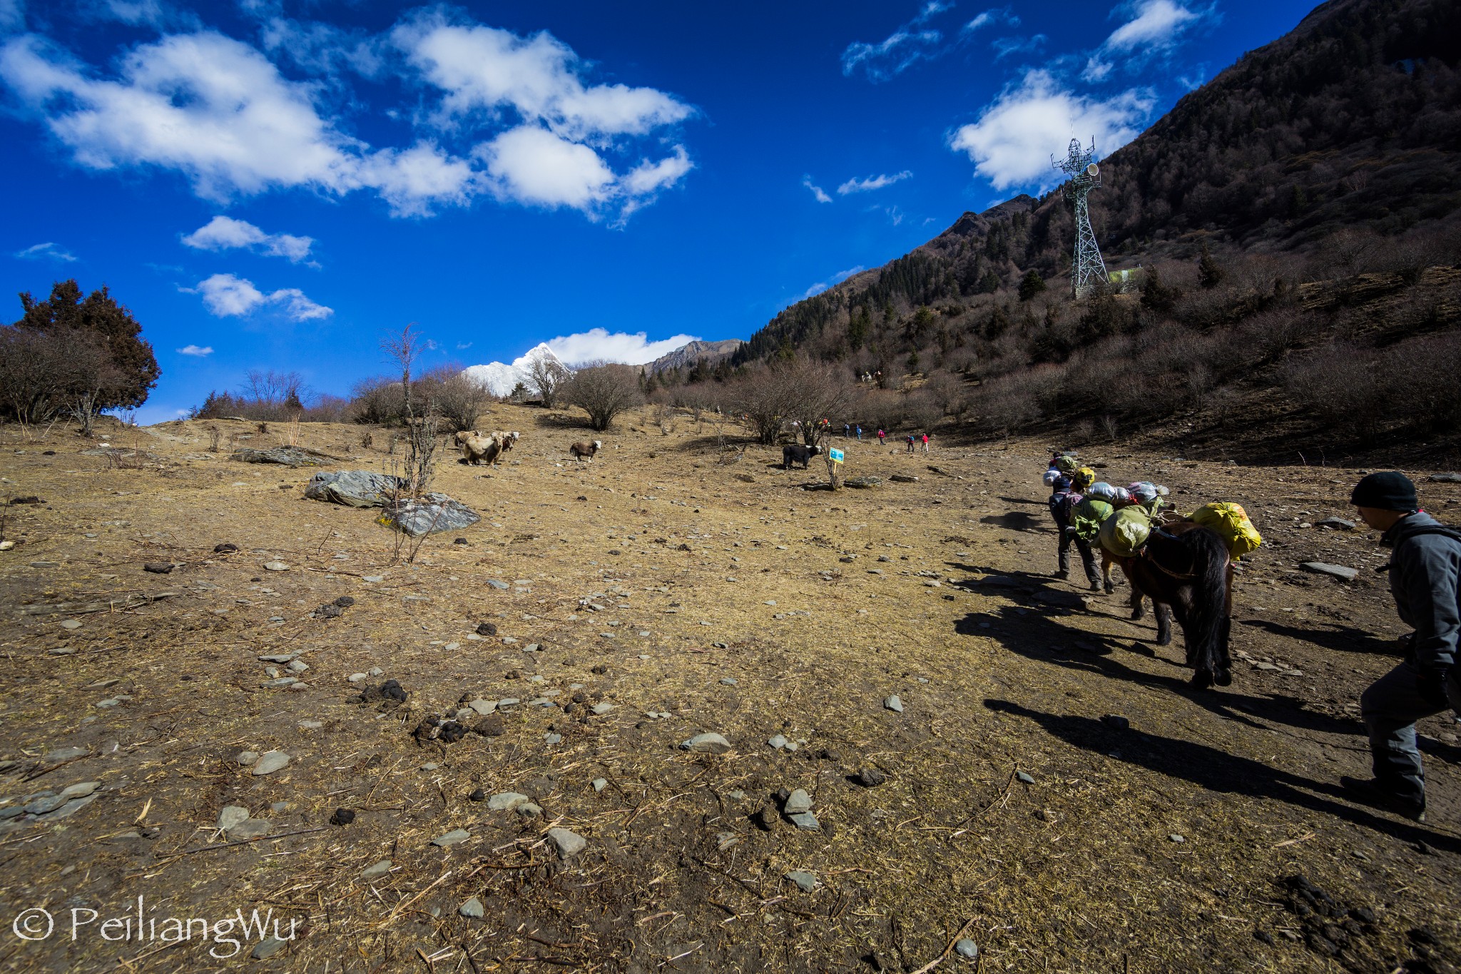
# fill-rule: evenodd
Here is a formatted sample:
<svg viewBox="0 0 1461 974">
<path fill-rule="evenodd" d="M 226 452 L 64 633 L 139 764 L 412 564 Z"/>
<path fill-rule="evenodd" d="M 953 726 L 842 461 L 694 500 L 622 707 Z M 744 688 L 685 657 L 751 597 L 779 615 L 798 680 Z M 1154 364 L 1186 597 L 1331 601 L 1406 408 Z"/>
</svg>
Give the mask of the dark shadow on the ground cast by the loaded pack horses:
<svg viewBox="0 0 1461 974">
<path fill-rule="evenodd" d="M 988 572 L 988 570 L 970 568 L 969 565 L 957 567 L 976 572 Z M 1236 720 L 1248 727 L 1267 730 L 1265 724 L 1254 720 L 1254 717 L 1258 717 L 1275 724 L 1287 724 L 1319 733 L 1365 733 L 1365 727 L 1359 720 L 1305 710 L 1302 705 L 1303 701 L 1293 697 L 1254 697 L 1233 689 L 1195 691 L 1188 685 L 1185 676 L 1166 676 L 1132 669 L 1121 662 L 1121 656 L 1126 651 L 1137 651 L 1150 659 L 1160 660 L 1173 669 L 1185 670 L 1185 663 L 1179 662 L 1182 659 L 1180 628 L 1173 626 L 1173 644 L 1159 650 L 1156 648 L 1156 629 L 1150 622 L 1128 622 L 1128 625 L 1140 625 L 1143 628 L 1140 637 L 1131 638 L 1064 625 L 1058 621 L 1062 616 L 1074 619 L 1096 613 L 1081 607 L 1083 603 L 1077 593 L 1052 587 L 1049 578 L 1020 571 L 991 574 L 999 580 L 1008 580 L 1011 584 L 999 588 L 991 588 L 989 583 L 980 581 L 955 584 L 983 594 L 998 593 L 1010 599 L 1026 596 L 1033 605 L 1001 606 L 989 613 L 969 613 L 954 622 L 954 632 L 992 638 L 1011 653 L 1040 663 L 1178 694 L 1218 717 Z M 1235 680 L 1242 679 L 1243 673 L 1235 675 Z"/>
</svg>

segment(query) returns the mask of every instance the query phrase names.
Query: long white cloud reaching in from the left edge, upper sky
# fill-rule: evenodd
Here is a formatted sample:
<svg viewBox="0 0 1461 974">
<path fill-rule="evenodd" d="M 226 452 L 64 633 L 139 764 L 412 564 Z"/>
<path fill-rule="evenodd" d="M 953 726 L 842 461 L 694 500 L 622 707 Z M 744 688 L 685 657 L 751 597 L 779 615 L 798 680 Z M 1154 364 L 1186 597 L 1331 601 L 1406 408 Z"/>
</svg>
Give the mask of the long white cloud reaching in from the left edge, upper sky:
<svg viewBox="0 0 1461 974">
<path fill-rule="evenodd" d="M 94 77 L 38 37 L 18 37 L 0 47 L 0 77 L 77 165 L 175 169 L 205 199 L 374 188 L 394 213 L 418 215 L 469 196 L 465 164 L 422 146 L 371 152 L 316 111 L 310 85 L 285 79 L 263 54 L 221 34 L 143 44 L 121 60 L 115 79 Z M 431 178 L 422 169 L 432 169 Z"/>
</svg>

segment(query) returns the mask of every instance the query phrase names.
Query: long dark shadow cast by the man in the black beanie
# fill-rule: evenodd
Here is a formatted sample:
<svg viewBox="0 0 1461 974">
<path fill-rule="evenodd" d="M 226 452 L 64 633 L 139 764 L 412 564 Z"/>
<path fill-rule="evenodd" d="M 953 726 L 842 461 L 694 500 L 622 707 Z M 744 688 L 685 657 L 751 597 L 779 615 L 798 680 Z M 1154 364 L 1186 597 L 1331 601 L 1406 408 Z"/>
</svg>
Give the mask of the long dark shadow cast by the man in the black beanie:
<svg viewBox="0 0 1461 974">
<path fill-rule="evenodd" d="M 1119 746 L 1119 761 L 1140 765 L 1172 778 L 1191 781 L 1210 791 L 1246 794 L 1255 799 L 1275 799 L 1312 812 L 1332 815 L 1346 822 L 1363 825 L 1407 843 L 1424 841 L 1446 851 L 1461 851 L 1461 841 L 1449 835 L 1433 832 L 1420 825 L 1394 822 L 1363 809 L 1332 802 L 1327 796 L 1338 797 L 1341 791 L 1337 786 L 1321 784 L 1297 774 L 1278 771 L 1261 761 L 1239 758 L 1217 748 L 1178 737 L 1141 733 L 1140 740 L 1134 740 L 1131 730 L 1115 730 L 1090 717 L 1048 714 L 1004 699 L 986 699 L 985 707 L 1005 714 L 1027 717 L 1040 724 L 1050 736 L 1059 737 L 1068 745 L 1084 751 L 1097 751 L 1110 756 L 1112 749 Z"/>
</svg>

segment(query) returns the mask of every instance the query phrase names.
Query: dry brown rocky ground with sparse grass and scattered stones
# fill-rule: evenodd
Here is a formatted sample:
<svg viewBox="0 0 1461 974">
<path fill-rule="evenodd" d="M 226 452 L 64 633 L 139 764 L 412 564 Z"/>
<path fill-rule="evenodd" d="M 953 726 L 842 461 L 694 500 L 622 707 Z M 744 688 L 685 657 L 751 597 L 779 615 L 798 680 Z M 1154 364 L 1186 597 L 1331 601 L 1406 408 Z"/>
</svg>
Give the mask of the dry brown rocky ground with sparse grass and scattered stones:
<svg viewBox="0 0 1461 974">
<path fill-rule="evenodd" d="M 831 494 L 684 416 L 581 464 L 565 418 L 489 419 L 507 461 L 435 483 L 482 521 L 419 546 L 229 459 L 278 429 L 0 431 L 4 970 L 1461 959 L 1454 720 L 1422 724 L 1429 824 L 1337 784 L 1403 632 L 1373 534 L 1321 524 L 1359 470 L 1086 450 L 1267 539 L 1233 685 L 1192 692 L 1124 588 L 1049 577 L 1052 444 L 852 442 L 881 482 Z M 1457 520 L 1461 483 L 1422 495 Z"/>
</svg>

